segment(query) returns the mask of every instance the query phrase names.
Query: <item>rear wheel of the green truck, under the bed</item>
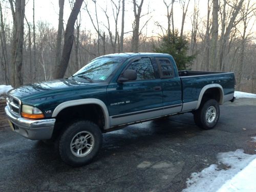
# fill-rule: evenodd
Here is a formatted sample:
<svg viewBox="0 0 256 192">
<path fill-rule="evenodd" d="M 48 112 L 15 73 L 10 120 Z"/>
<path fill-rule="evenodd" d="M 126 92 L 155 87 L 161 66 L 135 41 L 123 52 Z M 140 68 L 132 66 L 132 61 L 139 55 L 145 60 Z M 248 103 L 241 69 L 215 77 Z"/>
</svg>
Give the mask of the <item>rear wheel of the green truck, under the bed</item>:
<svg viewBox="0 0 256 192">
<path fill-rule="evenodd" d="M 215 99 L 202 103 L 194 112 L 194 121 L 202 129 L 209 130 L 216 126 L 220 117 L 219 103 Z"/>
</svg>

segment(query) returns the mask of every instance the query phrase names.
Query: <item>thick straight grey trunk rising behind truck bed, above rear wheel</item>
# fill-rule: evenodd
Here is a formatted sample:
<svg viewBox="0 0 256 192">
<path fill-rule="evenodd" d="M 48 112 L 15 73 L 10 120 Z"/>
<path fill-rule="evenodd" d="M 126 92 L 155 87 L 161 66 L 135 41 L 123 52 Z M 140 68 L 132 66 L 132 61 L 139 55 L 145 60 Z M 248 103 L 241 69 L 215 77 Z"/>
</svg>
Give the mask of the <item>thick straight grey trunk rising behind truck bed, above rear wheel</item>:
<svg viewBox="0 0 256 192">
<path fill-rule="evenodd" d="M 211 32 L 211 42 L 210 42 L 210 70 L 217 70 L 217 42 L 218 42 L 218 9 L 219 0 L 212 0 L 214 6 L 212 9 L 212 32 Z"/>
</svg>

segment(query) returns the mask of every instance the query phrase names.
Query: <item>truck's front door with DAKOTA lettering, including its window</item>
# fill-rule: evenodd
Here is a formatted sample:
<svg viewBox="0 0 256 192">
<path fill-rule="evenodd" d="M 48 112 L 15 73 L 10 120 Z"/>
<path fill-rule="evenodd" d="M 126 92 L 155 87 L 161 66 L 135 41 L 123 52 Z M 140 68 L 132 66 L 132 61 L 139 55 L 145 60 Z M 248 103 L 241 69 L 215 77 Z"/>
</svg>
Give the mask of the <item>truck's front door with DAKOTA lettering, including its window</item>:
<svg viewBox="0 0 256 192">
<path fill-rule="evenodd" d="M 132 60 L 126 69 L 135 70 L 137 79 L 111 83 L 107 88 L 111 126 L 162 115 L 162 89 L 150 57 Z"/>
</svg>

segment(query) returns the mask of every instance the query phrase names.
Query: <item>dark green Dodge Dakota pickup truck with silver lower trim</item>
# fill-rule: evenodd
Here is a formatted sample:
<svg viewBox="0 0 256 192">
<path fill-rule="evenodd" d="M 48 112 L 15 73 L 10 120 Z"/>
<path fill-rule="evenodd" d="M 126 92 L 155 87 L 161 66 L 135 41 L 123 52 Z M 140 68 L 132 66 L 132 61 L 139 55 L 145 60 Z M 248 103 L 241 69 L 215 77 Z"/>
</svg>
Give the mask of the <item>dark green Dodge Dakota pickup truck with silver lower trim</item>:
<svg viewBox="0 0 256 192">
<path fill-rule="evenodd" d="M 191 112 L 212 129 L 234 86 L 233 73 L 178 71 L 169 54 L 110 54 L 69 78 L 10 90 L 5 112 L 13 131 L 54 141 L 64 162 L 81 166 L 98 153 L 102 133 L 126 125 Z"/>
</svg>

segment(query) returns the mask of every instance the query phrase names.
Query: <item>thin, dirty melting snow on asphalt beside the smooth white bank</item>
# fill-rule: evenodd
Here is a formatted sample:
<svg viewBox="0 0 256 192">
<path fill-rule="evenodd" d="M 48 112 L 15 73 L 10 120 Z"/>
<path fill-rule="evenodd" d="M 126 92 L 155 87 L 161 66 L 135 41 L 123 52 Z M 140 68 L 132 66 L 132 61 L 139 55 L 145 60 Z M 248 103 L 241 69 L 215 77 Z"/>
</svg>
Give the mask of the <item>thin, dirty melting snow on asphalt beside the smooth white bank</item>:
<svg viewBox="0 0 256 192">
<path fill-rule="evenodd" d="M 212 164 L 200 173 L 191 174 L 190 178 L 186 181 L 187 188 L 182 191 L 217 191 L 251 161 L 256 159 L 256 155 L 248 155 L 243 150 L 237 150 L 235 152 L 219 153 L 217 158 L 219 165 L 224 165 L 225 169 L 220 169 L 217 164 Z M 253 178 L 255 178 L 256 171 L 253 172 L 255 175 Z M 254 191 L 256 191 L 256 186 Z"/>
</svg>

